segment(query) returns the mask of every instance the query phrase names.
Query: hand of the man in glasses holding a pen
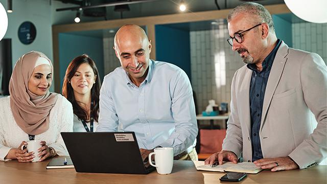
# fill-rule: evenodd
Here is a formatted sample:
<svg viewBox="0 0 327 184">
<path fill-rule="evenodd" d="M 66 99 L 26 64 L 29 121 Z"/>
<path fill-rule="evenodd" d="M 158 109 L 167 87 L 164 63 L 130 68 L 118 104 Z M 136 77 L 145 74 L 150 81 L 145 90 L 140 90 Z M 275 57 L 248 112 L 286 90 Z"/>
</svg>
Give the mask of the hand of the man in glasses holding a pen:
<svg viewBox="0 0 327 184">
<path fill-rule="evenodd" d="M 219 165 L 222 165 L 223 160 L 237 164 L 236 154 L 231 151 L 224 151 L 224 150 L 214 153 L 213 155 L 205 159 L 204 164 L 214 164 L 214 162 L 218 161 Z"/>
</svg>

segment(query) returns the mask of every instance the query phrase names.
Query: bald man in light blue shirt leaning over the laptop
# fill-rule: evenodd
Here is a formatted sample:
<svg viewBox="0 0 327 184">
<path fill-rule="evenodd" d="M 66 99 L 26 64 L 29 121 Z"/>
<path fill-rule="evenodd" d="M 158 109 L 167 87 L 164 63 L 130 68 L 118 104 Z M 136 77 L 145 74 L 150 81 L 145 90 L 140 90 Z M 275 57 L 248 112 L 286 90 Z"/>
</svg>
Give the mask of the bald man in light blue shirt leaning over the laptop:
<svg viewBox="0 0 327 184">
<path fill-rule="evenodd" d="M 97 131 L 134 131 L 144 160 L 156 147 L 174 148 L 174 159 L 197 160 L 198 127 L 185 72 L 151 60 L 151 40 L 136 25 L 118 30 L 113 49 L 121 67 L 104 77 Z"/>
</svg>

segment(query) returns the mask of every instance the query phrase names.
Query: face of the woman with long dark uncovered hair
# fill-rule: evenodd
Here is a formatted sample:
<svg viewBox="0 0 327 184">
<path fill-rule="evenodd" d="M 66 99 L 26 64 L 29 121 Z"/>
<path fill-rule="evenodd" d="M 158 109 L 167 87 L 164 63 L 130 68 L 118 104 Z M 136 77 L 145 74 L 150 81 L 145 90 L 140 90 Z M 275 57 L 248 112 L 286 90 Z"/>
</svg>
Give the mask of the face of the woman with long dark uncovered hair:
<svg viewBox="0 0 327 184">
<path fill-rule="evenodd" d="M 92 67 L 88 63 L 82 63 L 70 80 L 74 95 L 89 95 L 96 77 Z"/>
</svg>

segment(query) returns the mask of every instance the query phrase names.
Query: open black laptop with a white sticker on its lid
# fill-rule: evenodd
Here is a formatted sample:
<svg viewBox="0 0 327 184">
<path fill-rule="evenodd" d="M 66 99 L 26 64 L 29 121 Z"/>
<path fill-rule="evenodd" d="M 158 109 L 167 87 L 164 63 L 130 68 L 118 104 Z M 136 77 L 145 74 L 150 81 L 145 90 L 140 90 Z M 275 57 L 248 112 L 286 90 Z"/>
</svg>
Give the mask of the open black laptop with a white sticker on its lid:
<svg viewBox="0 0 327 184">
<path fill-rule="evenodd" d="M 61 132 L 76 172 L 148 174 L 134 132 Z"/>
</svg>

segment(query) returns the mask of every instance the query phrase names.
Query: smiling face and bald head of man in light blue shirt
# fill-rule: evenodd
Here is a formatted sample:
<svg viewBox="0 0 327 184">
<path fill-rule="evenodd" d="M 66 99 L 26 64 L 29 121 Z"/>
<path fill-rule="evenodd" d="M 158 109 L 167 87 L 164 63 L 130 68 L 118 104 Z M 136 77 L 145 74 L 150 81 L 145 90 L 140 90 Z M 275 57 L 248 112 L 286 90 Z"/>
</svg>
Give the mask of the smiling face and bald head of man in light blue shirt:
<svg viewBox="0 0 327 184">
<path fill-rule="evenodd" d="M 131 81 L 136 85 L 142 83 L 146 78 L 151 52 L 151 41 L 142 28 L 135 25 L 122 27 L 115 36 L 114 50 Z"/>
</svg>

